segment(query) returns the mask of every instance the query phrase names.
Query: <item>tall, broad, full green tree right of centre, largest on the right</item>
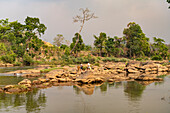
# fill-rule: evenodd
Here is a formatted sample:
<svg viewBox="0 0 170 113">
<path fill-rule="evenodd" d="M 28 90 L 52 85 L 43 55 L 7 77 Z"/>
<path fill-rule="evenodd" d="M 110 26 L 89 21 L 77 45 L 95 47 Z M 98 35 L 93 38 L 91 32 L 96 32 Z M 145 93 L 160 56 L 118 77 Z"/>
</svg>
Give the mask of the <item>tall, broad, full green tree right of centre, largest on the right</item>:
<svg viewBox="0 0 170 113">
<path fill-rule="evenodd" d="M 130 22 L 125 28 L 123 34 L 126 38 L 126 47 L 128 57 L 149 55 L 149 38 L 145 36 L 141 27 L 135 22 Z"/>
</svg>

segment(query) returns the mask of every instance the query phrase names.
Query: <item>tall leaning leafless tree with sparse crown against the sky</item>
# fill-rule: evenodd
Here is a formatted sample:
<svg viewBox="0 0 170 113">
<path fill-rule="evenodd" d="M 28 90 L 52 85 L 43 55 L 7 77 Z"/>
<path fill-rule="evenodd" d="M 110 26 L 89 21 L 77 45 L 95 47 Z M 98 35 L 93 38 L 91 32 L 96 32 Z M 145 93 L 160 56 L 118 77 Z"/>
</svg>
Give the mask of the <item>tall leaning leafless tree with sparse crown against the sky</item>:
<svg viewBox="0 0 170 113">
<path fill-rule="evenodd" d="M 78 32 L 78 38 L 77 38 L 76 43 L 75 43 L 73 49 L 71 50 L 70 54 L 74 51 L 77 43 L 79 42 L 79 35 L 84 27 L 85 22 L 92 18 L 97 18 L 96 16 L 94 16 L 94 13 L 90 13 L 90 10 L 88 8 L 86 8 L 86 9 L 80 8 L 79 10 L 82 11 L 82 15 L 81 16 L 77 15 L 77 16 L 73 17 L 73 22 L 80 22 L 81 26 L 80 26 L 80 30 Z"/>
</svg>

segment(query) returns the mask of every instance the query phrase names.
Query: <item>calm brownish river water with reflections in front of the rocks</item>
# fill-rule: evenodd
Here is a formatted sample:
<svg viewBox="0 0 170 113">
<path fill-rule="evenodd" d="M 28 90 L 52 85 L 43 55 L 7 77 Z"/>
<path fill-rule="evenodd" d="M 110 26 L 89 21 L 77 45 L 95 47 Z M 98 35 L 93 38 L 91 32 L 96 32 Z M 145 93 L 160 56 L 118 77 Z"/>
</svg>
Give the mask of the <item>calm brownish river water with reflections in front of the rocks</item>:
<svg viewBox="0 0 170 113">
<path fill-rule="evenodd" d="M 53 86 L 26 94 L 3 93 L 0 113 L 170 113 L 170 76 L 161 83 L 141 84 Z"/>
</svg>

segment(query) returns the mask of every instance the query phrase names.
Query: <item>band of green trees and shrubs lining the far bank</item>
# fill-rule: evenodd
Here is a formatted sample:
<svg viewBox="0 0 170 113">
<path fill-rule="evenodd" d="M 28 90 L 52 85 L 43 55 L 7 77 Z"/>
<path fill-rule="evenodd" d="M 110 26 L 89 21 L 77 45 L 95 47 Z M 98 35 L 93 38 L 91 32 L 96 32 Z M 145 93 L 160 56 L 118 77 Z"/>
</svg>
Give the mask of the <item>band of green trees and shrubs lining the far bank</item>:
<svg viewBox="0 0 170 113">
<path fill-rule="evenodd" d="M 15 65 L 90 62 L 99 65 L 100 61 L 163 60 L 170 56 L 169 47 L 163 39 L 154 37 L 154 43 L 150 43 L 141 27 L 134 22 L 123 30 L 123 37 L 112 38 L 103 32 L 99 36 L 94 35 L 94 47 L 85 45 L 79 33 L 75 33 L 71 44 L 68 41 L 63 43 L 61 34 L 54 38 L 54 45 L 49 44 L 39 38 L 46 29 L 38 18 L 27 17 L 24 24 L 0 20 L 1 62 Z"/>
</svg>

